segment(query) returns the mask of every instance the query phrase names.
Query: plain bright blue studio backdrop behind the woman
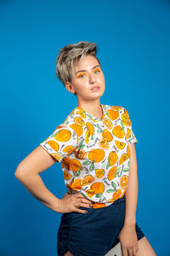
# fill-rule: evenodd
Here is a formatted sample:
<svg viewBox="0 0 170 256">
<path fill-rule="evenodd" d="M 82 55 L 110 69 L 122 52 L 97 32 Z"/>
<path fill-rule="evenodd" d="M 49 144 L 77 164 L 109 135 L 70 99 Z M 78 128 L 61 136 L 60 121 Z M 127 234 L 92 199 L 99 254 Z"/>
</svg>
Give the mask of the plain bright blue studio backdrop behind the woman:
<svg viewBox="0 0 170 256">
<path fill-rule="evenodd" d="M 1 256 L 57 255 L 61 213 L 14 177 L 20 161 L 77 107 L 55 76 L 59 49 L 90 41 L 105 74 L 103 104 L 127 108 L 138 138 L 137 223 L 157 255 L 169 245 L 169 1 L 1 1 Z M 41 173 L 58 198 L 59 163 Z"/>
</svg>

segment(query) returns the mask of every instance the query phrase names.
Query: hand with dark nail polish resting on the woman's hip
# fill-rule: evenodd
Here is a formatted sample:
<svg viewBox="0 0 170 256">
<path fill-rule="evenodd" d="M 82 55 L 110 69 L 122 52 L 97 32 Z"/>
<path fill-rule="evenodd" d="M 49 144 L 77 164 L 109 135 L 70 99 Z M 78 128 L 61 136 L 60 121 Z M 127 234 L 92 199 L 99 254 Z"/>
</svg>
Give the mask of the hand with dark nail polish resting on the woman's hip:
<svg viewBox="0 0 170 256">
<path fill-rule="evenodd" d="M 68 192 L 68 191 L 67 191 Z M 67 212 L 81 212 L 86 213 L 84 210 L 78 209 L 77 207 L 88 207 L 91 205 L 90 200 L 85 198 L 80 192 L 74 195 L 69 195 L 68 193 L 59 199 L 56 212 L 67 213 Z"/>
</svg>

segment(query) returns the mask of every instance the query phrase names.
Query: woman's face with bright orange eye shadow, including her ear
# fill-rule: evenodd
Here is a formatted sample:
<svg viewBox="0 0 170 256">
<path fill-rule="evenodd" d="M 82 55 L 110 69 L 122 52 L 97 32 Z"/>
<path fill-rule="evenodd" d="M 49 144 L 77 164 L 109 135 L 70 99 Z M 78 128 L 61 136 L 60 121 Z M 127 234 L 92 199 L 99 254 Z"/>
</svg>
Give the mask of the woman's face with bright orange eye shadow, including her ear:
<svg viewBox="0 0 170 256">
<path fill-rule="evenodd" d="M 67 90 L 77 92 L 79 102 L 99 99 L 105 92 L 105 77 L 97 59 L 88 55 L 81 62 L 77 61 L 74 69 L 75 78 L 65 84 Z M 99 86 L 99 90 L 92 90 L 94 86 Z"/>
</svg>

